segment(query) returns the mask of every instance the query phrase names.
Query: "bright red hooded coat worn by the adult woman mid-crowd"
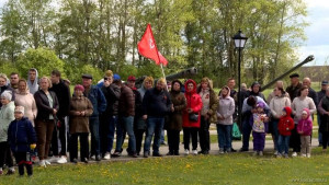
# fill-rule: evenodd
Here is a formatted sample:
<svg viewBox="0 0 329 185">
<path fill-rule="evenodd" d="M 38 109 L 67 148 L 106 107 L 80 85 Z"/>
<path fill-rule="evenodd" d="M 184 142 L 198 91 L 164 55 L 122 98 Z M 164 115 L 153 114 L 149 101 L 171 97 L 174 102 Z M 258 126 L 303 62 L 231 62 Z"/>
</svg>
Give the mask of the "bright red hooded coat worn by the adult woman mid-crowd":
<svg viewBox="0 0 329 185">
<path fill-rule="evenodd" d="M 194 89 L 192 92 L 188 92 L 188 84 L 194 84 Z M 186 109 L 183 111 L 183 127 L 196 127 L 200 128 L 200 118 L 201 118 L 201 109 L 202 109 L 202 100 L 201 96 L 196 93 L 196 83 L 193 80 L 188 80 L 185 82 L 185 97 L 186 97 Z M 198 114 L 197 122 L 191 122 L 189 119 L 188 108 L 192 108 L 193 113 Z"/>
</svg>

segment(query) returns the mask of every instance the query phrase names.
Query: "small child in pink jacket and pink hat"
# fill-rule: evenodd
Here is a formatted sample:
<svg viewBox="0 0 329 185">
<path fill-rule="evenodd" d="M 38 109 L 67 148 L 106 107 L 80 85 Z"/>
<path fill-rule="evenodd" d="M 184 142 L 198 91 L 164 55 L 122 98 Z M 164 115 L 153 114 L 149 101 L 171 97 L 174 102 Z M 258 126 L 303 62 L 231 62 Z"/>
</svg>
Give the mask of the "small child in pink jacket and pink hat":
<svg viewBox="0 0 329 185">
<path fill-rule="evenodd" d="M 309 116 L 309 109 L 304 108 L 302 112 L 302 119 L 298 120 L 297 125 L 297 132 L 300 135 L 300 153 L 303 158 L 310 158 L 310 135 L 313 129 L 313 123 Z"/>
</svg>

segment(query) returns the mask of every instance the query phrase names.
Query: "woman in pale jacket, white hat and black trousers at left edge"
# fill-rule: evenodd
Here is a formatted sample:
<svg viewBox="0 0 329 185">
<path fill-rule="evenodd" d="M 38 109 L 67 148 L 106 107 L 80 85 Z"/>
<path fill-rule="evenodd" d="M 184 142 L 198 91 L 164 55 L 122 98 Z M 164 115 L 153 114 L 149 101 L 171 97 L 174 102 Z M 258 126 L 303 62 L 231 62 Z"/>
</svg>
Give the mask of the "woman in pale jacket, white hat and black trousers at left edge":
<svg viewBox="0 0 329 185">
<path fill-rule="evenodd" d="M 8 175 L 14 173 L 13 161 L 8 143 L 8 127 L 12 120 L 14 120 L 15 105 L 11 101 L 11 91 L 2 92 L 0 96 L 1 109 L 0 109 L 0 175 L 3 173 L 2 167 L 5 163 L 9 167 Z"/>
</svg>

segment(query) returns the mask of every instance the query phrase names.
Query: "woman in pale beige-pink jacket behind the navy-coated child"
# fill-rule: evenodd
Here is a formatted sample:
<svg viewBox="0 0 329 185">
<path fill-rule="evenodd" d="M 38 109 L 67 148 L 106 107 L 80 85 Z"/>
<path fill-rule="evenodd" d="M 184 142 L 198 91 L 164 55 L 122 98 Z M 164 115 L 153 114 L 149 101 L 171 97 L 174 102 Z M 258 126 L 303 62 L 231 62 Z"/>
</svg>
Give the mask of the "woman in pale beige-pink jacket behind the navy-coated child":
<svg viewBox="0 0 329 185">
<path fill-rule="evenodd" d="M 34 119 L 36 118 L 37 108 L 34 96 L 30 93 L 27 82 L 24 79 L 19 81 L 19 89 L 15 92 L 15 105 L 24 107 L 24 116 L 31 120 L 34 127 Z"/>
</svg>

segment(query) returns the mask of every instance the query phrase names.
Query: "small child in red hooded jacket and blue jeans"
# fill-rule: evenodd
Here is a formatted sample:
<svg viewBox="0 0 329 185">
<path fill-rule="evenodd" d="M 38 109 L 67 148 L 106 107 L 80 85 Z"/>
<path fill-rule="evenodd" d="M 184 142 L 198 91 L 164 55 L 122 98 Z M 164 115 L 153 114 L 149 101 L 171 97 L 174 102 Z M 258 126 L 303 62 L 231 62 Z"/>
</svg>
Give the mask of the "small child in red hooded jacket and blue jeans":
<svg viewBox="0 0 329 185">
<path fill-rule="evenodd" d="M 282 111 L 282 116 L 280 117 L 277 129 L 279 129 L 279 139 L 277 139 L 277 147 L 279 153 L 277 158 L 284 155 L 288 158 L 290 151 L 290 137 L 292 135 L 292 130 L 295 128 L 294 119 L 291 117 L 292 108 L 286 106 Z M 284 151 L 284 153 L 283 153 Z"/>
</svg>

